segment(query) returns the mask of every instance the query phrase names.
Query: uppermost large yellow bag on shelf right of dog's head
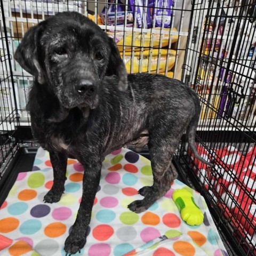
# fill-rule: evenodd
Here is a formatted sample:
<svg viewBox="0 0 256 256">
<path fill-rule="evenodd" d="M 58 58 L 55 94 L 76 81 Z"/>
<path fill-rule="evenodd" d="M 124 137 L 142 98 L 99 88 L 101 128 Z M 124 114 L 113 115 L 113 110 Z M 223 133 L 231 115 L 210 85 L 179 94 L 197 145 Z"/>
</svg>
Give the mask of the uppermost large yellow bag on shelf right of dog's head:
<svg viewBox="0 0 256 256">
<path fill-rule="evenodd" d="M 160 30 L 161 28 L 155 28 L 155 29 Z M 163 30 L 170 31 L 170 28 L 164 28 L 164 29 L 162 29 L 162 31 Z M 172 31 L 176 32 L 177 29 L 173 28 Z M 133 36 L 134 36 L 134 38 L 133 38 Z M 133 50 L 132 46 L 134 46 L 134 51 L 139 51 L 142 46 L 144 48 L 148 48 L 150 46 L 159 47 L 160 46 L 159 45 L 160 38 L 161 38 L 161 34 L 159 34 L 159 33 L 153 34 L 153 38 L 151 36 L 151 33 L 144 33 L 144 38 L 143 38 L 143 34 L 141 34 L 139 32 L 134 33 L 134 35 L 131 32 L 127 32 L 126 37 L 125 37 L 125 42 L 124 42 L 123 36 L 122 36 L 122 38 L 118 38 L 119 41 L 117 42 L 117 47 L 118 47 L 118 50 L 121 52 L 124 50 L 124 46 L 125 46 L 125 51 L 128 51 L 128 52 L 131 52 Z M 177 42 L 178 35 L 170 36 L 169 34 L 163 34 L 162 47 L 169 45 L 169 39 L 172 39 L 172 43 Z M 143 43 L 143 45 L 142 45 L 142 43 Z"/>
</svg>

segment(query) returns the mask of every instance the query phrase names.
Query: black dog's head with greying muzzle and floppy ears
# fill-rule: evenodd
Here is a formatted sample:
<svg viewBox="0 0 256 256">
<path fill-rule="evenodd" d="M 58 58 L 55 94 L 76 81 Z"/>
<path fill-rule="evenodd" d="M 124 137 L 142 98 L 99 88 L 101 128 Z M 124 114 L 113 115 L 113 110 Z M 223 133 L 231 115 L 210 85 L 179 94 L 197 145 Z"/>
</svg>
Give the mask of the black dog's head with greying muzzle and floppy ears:
<svg viewBox="0 0 256 256">
<path fill-rule="evenodd" d="M 95 108 L 105 76 L 116 75 L 119 90 L 127 87 L 126 69 L 113 39 L 76 12 L 58 13 L 30 28 L 14 58 L 67 109 Z"/>
</svg>

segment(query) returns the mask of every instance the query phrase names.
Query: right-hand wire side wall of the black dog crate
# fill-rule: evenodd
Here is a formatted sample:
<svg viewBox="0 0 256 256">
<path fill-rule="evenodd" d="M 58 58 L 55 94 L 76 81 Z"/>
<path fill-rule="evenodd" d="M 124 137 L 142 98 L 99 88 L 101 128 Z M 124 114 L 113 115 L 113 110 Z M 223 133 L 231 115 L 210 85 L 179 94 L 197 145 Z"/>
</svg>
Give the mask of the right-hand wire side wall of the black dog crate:
<svg viewBox="0 0 256 256">
<path fill-rule="evenodd" d="M 197 162 L 186 143 L 179 163 L 232 255 L 256 254 L 255 20 L 256 1 L 195 1 L 183 73 L 201 99 L 198 151 L 215 167 Z"/>
</svg>

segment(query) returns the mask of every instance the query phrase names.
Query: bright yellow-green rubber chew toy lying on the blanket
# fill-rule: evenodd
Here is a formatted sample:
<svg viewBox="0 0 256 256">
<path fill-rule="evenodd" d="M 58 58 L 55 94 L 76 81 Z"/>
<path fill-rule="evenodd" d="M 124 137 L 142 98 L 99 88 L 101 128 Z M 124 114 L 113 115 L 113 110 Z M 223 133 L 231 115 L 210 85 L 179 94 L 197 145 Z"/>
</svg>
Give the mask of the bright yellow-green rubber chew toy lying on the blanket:
<svg viewBox="0 0 256 256">
<path fill-rule="evenodd" d="M 178 206 L 181 219 L 190 226 L 199 226 L 204 221 L 204 214 L 194 201 L 193 195 L 185 188 L 176 189 L 172 198 Z"/>
</svg>

